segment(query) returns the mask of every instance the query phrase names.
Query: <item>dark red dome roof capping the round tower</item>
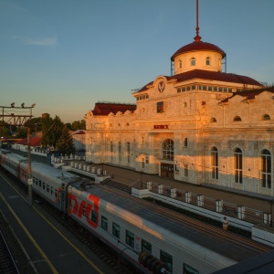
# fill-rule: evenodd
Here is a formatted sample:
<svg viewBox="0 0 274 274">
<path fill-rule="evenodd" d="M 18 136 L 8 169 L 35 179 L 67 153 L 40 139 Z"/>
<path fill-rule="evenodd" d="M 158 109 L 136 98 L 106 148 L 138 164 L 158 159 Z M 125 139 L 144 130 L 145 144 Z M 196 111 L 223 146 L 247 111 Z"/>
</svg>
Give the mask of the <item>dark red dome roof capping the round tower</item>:
<svg viewBox="0 0 274 274">
<path fill-rule="evenodd" d="M 199 42 L 190 43 L 188 45 L 185 45 L 184 47 L 179 48 L 171 57 L 171 60 L 174 61 L 174 58 L 179 54 L 189 52 L 189 51 L 201 51 L 201 50 L 216 51 L 222 55 L 222 58 L 226 57 L 225 51 L 222 50 L 220 47 L 217 47 L 210 43 L 199 41 Z"/>
</svg>

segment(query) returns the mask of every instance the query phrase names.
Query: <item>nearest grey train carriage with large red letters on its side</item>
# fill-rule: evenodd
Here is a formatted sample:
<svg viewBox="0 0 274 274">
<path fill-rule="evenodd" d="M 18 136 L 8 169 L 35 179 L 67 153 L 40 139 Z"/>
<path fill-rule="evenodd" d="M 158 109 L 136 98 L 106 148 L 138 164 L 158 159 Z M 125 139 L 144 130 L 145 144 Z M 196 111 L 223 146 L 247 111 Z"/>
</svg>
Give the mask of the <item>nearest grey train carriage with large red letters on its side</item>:
<svg viewBox="0 0 274 274">
<path fill-rule="evenodd" d="M 195 240 L 196 233 L 182 227 L 182 222 L 162 216 L 149 205 L 136 202 L 131 195 L 126 198 L 100 185 L 86 185 L 86 190 L 79 184 L 69 185 L 68 215 L 135 266 L 144 251 L 160 258 L 169 273 L 183 273 L 185 266 L 196 273 L 210 273 L 237 263 L 206 248 L 205 239 L 203 245 L 199 244 L 200 238 Z M 207 244 L 210 242 L 208 239 Z"/>
</svg>

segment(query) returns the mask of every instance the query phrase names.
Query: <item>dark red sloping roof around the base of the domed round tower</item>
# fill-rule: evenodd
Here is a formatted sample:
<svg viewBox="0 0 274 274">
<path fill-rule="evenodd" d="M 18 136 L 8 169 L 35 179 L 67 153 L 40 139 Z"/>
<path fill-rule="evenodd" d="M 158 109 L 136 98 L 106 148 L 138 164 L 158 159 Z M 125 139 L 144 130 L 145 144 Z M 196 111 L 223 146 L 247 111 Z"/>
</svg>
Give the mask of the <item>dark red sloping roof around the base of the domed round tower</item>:
<svg viewBox="0 0 274 274">
<path fill-rule="evenodd" d="M 223 82 L 239 83 L 245 85 L 262 86 L 256 79 L 252 79 L 248 76 L 238 75 L 234 73 L 216 72 L 203 69 L 193 69 L 174 76 L 167 76 L 167 79 L 176 79 L 177 82 L 183 82 L 190 79 L 210 79 Z M 151 85 L 153 82 L 145 85 L 141 90 L 148 90 L 146 86 Z"/>
</svg>

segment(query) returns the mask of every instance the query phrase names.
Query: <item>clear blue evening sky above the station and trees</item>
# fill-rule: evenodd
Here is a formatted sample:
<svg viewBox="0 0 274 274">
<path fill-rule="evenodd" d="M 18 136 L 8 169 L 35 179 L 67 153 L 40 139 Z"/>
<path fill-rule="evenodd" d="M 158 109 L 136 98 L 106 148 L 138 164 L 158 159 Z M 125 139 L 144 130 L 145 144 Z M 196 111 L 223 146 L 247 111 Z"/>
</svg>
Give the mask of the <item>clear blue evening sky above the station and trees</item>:
<svg viewBox="0 0 274 274">
<path fill-rule="evenodd" d="M 273 0 L 200 0 L 200 36 L 227 53 L 227 72 L 272 84 L 273 12 Z M 97 101 L 134 103 L 133 89 L 170 75 L 195 24 L 195 0 L 1 0 L 0 105 L 72 122 Z"/>
</svg>

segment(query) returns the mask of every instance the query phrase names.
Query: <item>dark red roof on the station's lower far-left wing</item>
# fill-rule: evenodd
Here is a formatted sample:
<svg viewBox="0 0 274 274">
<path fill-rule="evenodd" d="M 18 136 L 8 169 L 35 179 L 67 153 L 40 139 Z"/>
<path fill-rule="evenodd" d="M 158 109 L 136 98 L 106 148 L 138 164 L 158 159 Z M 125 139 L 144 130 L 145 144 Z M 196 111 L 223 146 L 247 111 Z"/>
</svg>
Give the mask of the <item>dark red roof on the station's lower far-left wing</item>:
<svg viewBox="0 0 274 274">
<path fill-rule="evenodd" d="M 116 114 L 118 111 L 124 113 L 125 111 L 135 111 L 135 104 L 120 104 L 120 103 L 96 103 L 93 115 L 109 115 L 111 112 Z"/>
</svg>

